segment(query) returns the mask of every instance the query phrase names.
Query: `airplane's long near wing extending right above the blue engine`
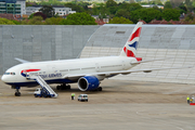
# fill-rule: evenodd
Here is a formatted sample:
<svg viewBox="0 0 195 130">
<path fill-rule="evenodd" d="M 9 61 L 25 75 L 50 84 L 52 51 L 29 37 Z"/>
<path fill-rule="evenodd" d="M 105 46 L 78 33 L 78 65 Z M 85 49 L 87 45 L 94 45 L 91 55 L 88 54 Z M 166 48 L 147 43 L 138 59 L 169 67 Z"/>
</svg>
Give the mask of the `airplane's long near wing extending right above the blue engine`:
<svg viewBox="0 0 195 130">
<path fill-rule="evenodd" d="M 92 74 L 78 74 L 78 75 L 65 75 L 63 78 L 65 79 L 79 79 L 83 76 L 105 76 L 112 77 L 118 74 L 128 75 L 131 73 L 151 73 L 153 70 L 165 70 L 165 69 L 181 69 L 181 68 L 192 68 L 193 66 L 185 66 L 185 67 L 166 67 L 166 68 L 148 68 L 148 69 L 130 69 L 130 70 L 119 70 L 119 72 L 105 72 L 105 73 L 92 73 Z"/>
</svg>

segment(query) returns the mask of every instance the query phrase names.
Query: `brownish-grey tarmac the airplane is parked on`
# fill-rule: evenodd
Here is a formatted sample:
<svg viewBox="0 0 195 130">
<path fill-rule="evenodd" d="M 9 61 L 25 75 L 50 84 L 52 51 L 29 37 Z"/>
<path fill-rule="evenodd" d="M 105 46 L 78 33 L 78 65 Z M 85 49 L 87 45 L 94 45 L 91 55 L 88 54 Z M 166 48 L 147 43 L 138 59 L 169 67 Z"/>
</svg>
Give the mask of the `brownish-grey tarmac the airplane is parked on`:
<svg viewBox="0 0 195 130">
<path fill-rule="evenodd" d="M 195 106 L 186 103 L 195 84 L 105 79 L 102 92 L 55 86 L 57 99 L 34 98 L 36 88 L 16 98 L 0 81 L 0 130 L 195 130 Z M 81 93 L 89 102 L 77 101 Z"/>
</svg>

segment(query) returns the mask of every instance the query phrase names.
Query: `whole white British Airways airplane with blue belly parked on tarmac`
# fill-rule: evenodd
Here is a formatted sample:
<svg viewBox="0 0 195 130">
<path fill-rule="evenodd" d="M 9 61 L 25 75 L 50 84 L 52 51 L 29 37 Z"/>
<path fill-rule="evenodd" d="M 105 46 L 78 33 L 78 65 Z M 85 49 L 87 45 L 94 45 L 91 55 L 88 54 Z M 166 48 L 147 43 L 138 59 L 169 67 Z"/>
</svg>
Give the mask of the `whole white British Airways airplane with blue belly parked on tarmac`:
<svg viewBox="0 0 195 130">
<path fill-rule="evenodd" d="M 139 22 L 135 25 L 132 34 L 128 38 L 118 56 L 46 62 L 28 62 L 25 60 L 15 58 L 22 64 L 9 68 L 1 77 L 1 80 L 6 84 L 12 86 L 12 89 L 16 89 L 15 96 L 21 96 L 21 87 L 36 87 L 40 84 L 42 88 L 46 87 L 47 92 L 52 92 L 52 89 L 48 83 L 61 83 L 61 86 L 57 86 L 56 89 L 62 90 L 70 89 L 69 83 L 78 82 L 78 89 L 81 91 L 102 91 L 102 87 L 100 87 L 101 81 L 105 78 L 114 77 L 119 74 L 128 75 L 139 72 L 151 73 L 153 70 L 184 68 L 172 67 L 134 70 L 131 69 L 141 63 L 160 61 L 142 61 L 142 57 L 135 56 L 142 24 L 142 22 Z M 56 93 L 54 94 L 53 96 L 56 98 Z"/>
</svg>

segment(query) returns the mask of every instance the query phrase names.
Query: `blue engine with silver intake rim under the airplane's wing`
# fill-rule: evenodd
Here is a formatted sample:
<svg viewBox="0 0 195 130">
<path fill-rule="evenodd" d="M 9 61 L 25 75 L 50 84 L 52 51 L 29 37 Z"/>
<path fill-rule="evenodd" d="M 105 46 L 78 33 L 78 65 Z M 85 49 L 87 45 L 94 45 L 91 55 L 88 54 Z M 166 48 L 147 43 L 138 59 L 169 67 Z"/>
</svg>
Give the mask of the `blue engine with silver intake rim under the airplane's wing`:
<svg viewBox="0 0 195 130">
<path fill-rule="evenodd" d="M 78 88 L 81 91 L 90 91 L 99 88 L 100 81 L 95 76 L 84 76 L 79 78 Z"/>
</svg>

